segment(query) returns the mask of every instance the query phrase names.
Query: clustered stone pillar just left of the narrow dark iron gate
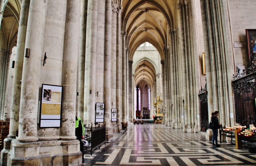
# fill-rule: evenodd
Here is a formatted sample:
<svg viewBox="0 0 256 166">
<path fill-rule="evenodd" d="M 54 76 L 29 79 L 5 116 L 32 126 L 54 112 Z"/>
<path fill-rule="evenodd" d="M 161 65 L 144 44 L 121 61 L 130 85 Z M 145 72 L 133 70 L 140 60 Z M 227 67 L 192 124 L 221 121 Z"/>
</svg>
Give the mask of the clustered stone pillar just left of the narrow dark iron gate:
<svg viewBox="0 0 256 166">
<path fill-rule="evenodd" d="M 188 1 L 178 3 L 177 8 L 180 14 L 180 43 L 181 43 L 181 56 L 182 56 L 182 80 L 183 80 L 183 104 L 182 108 L 184 112 L 184 132 L 195 132 L 195 120 L 196 116 L 194 110 L 196 110 L 196 87 L 195 81 L 192 79 L 195 76 L 193 51 L 191 50 L 191 36 L 192 32 L 190 29 L 189 22 L 189 8 Z M 174 35 L 175 37 L 175 35 Z M 181 86 L 182 87 L 182 86 Z M 192 113 L 193 112 L 193 113 Z"/>
</svg>

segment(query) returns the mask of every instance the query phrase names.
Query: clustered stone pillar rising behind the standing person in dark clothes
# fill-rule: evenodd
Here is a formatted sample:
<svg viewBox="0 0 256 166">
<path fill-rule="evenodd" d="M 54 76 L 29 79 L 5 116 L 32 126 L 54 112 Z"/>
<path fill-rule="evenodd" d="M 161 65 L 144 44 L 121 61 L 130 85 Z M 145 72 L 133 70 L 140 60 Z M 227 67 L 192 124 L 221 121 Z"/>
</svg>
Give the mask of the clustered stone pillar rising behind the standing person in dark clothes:
<svg viewBox="0 0 256 166">
<path fill-rule="evenodd" d="M 220 110 L 220 123 L 231 126 L 234 125 L 234 119 L 230 118 L 230 110 L 234 109 L 233 105 L 229 104 L 233 103 L 233 97 L 230 95 L 233 93 L 230 79 L 234 64 L 227 60 L 229 49 L 221 49 L 229 44 L 224 40 L 223 33 L 226 31 L 226 26 L 218 21 L 226 19 L 222 11 L 226 2 L 208 0 L 200 0 L 200 2 L 208 87 L 208 117 L 210 119 L 212 112 Z M 207 133 L 209 136 L 208 130 Z"/>
</svg>

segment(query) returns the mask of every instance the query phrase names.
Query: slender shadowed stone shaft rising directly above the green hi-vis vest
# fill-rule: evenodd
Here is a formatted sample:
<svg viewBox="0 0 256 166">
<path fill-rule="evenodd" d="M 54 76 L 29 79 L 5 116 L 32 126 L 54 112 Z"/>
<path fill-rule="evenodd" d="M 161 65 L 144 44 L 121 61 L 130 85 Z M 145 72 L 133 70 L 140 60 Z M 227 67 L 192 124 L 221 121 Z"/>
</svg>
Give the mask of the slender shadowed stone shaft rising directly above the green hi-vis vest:
<svg viewBox="0 0 256 166">
<path fill-rule="evenodd" d="M 79 40 L 79 84 L 78 84 L 78 116 L 83 119 L 83 103 L 85 90 L 85 43 L 87 25 L 87 5 L 88 1 L 81 1 L 80 14 L 80 40 Z"/>
</svg>

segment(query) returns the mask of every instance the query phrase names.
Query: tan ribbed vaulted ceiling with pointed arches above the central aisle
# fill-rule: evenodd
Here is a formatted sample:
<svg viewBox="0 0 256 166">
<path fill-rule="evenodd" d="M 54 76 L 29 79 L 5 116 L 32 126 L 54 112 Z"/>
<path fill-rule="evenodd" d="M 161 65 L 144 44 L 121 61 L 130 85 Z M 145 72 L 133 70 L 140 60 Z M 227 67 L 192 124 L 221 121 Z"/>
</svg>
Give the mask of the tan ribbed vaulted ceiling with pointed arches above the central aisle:
<svg viewBox="0 0 256 166">
<path fill-rule="evenodd" d="M 169 30 L 174 27 L 176 1 L 174 0 L 123 0 L 122 30 L 126 31 L 126 47 L 129 48 L 129 60 L 134 52 L 145 43 L 151 43 L 164 59 L 163 48 L 168 46 Z M 153 85 L 156 73 L 148 61 L 141 61 L 135 67 L 135 85 L 144 81 Z"/>
</svg>

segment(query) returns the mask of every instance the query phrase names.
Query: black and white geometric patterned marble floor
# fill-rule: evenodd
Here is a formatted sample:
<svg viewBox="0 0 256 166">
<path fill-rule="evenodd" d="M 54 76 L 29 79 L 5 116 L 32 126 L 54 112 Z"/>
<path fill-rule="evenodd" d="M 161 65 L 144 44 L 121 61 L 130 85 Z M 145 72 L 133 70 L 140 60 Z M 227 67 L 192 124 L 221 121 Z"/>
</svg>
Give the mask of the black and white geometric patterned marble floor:
<svg viewBox="0 0 256 166">
<path fill-rule="evenodd" d="M 86 166 L 198 166 L 256 165 L 256 154 L 248 149 L 221 144 L 212 148 L 205 133 L 184 133 L 164 125 L 134 125 L 123 134 L 114 133 L 93 156 L 85 155 Z"/>
</svg>

